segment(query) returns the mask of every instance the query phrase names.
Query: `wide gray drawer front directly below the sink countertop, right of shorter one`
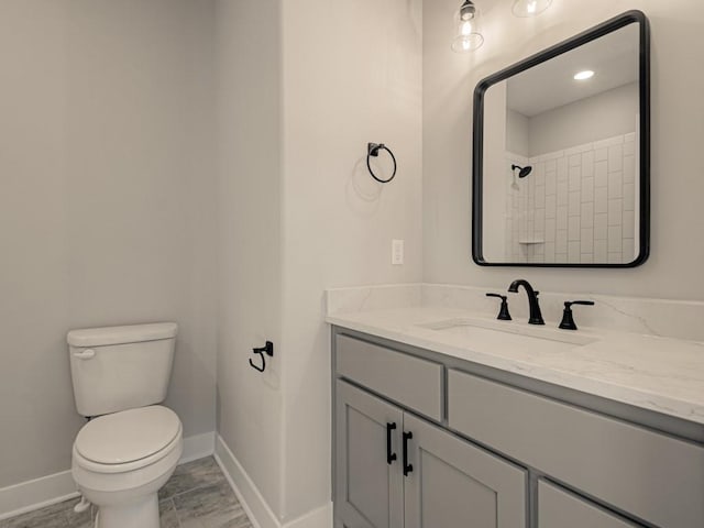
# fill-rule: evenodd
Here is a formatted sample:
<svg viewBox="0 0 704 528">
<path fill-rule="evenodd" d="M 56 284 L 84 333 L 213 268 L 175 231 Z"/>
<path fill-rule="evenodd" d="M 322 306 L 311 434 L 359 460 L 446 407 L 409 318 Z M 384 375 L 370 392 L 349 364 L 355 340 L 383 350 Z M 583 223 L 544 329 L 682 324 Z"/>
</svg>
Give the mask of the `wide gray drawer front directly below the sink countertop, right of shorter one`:
<svg viewBox="0 0 704 528">
<path fill-rule="evenodd" d="M 449 427 L 657 526 L 704 526 L 704 448 L 459 371 Z"/>
</svg>

